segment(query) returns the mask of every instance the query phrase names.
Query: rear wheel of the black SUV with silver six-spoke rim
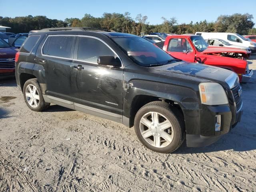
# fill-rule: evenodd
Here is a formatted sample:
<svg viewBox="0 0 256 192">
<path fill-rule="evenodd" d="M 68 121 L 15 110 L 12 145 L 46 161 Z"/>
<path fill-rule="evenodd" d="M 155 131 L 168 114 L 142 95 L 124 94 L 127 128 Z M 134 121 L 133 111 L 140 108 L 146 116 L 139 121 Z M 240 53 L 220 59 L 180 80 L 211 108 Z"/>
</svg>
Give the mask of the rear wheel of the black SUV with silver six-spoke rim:
<svg viewBox="0 0 256 192">
<path fill-rule="evenodd" d="M 33 111 L 42 111 L 50 106 L 50 103 L 44 101 L 40 84 L 36 78 L 29 79 L 25 82 L 23 96 L 28 108 Z"/>
</svg>

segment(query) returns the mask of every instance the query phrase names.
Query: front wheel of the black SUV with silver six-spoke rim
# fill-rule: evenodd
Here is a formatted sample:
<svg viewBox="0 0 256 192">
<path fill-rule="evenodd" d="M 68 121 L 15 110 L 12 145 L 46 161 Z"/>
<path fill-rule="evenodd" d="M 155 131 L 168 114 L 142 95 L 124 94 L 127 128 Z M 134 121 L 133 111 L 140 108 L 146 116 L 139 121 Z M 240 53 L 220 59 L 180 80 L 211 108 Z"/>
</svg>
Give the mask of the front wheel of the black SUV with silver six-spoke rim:
<svg viewBox="0 0 256 192">
<path fill-rule="evenodd" d="M 185 138 L 183 116 L 176 108 L 161 101 L 150 102 L 140 108 L 134 128 L 144 146 L 160 153 L 174 152 Z"/>
</svg>

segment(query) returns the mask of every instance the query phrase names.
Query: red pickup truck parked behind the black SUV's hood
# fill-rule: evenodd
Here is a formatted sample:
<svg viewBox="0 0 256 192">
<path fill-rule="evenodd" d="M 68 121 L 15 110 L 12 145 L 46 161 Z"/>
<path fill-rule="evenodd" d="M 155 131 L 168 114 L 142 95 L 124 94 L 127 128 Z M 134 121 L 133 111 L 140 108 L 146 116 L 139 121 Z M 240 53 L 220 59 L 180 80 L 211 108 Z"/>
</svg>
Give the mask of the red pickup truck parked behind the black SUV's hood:
<svg viewBox="0 0 256 192">
<path fill-rule="evenodd" d="M 219 46 L 208 47 L 202 36 L 168 36 L 164 42 L 163 50 L 174 58 L 232 70 L 238 74 L 240 82 L 248 82 L 253 74 L 246 61 L 246 58 L 250 57 L 250 51 Z"/>
</svg>

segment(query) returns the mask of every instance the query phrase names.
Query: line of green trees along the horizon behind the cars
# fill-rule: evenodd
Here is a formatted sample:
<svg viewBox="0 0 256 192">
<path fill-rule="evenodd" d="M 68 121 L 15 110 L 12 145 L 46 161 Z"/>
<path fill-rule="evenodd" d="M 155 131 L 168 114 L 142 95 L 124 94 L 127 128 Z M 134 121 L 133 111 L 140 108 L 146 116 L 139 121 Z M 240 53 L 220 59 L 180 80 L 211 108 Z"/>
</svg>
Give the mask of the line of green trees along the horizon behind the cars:
<svg viewBox="0 0 256 192">
<path fill-rule="evenodd" d="M 173 34 L 194 34 L 200 32 L 234 32 L 241 35 L 256 34 L 256 28 L 252 21 L 252 14 L 232 14 L 220 15 L 215 22 L 202 20 L 189 24 L 178 24 L 175 17 L 162 17 L 162 24 L 152 25 L 148 22 L 148 17 L 138 14 L 132 18 L 129 12 L 104 13 L 102 17 L 94 17 L 85 14 L 83 18 L 66 18 L 63 20 L 49 19 L 46 16 L 23 16 L 23 17 L 2 17 L 0 25 L 11 27 L 8 30 L 14 33 L 29 32 L 30 30 L 40 30 L 52 27 L 89 27 L 114 30 L 136 35 L 149 34 L 150 32 L 164 32 Z"/>
</svg>

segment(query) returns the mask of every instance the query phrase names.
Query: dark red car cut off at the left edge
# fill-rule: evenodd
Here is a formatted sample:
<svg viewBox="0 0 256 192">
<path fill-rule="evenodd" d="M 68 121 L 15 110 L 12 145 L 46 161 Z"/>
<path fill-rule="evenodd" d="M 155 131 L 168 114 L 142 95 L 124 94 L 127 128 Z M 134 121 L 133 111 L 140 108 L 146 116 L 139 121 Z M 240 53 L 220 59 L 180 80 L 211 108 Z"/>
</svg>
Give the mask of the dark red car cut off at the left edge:
<svg viewBox="0 0 256 192">
<path fill-rule="evenodd" d="M 17 51 L 16 47 L 10 46 L 0 38 L 0 78 L 15 75 L 15 54 Z"/>
</svg>

